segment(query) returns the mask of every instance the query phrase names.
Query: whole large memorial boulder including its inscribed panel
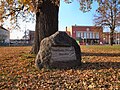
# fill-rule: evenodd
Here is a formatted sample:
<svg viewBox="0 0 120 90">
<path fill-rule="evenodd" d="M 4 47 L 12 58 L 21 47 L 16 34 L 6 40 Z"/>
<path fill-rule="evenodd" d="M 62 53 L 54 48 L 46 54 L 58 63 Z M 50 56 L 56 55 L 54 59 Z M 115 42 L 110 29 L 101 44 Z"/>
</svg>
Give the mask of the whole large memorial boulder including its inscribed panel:
<svg viewBox="0 0 120 90">
<path fill-rule="evenodd" d="M 35 64 L 39 69 L 79 66 L 81 64 L 80 46 L 66 32 L 58 31 L 41 41 Z"/>
</svg>

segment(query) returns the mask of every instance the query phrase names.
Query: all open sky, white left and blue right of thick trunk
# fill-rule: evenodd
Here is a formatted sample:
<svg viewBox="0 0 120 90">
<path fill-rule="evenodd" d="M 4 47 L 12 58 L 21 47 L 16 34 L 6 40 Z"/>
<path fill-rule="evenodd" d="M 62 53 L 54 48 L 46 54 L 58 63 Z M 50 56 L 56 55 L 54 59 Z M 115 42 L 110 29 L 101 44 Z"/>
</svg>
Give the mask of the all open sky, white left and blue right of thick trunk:
<svg viewBox="0 0 120 90">
<path fill-rule="evenodd" d="M 78 0 L 74 0 L 71 4 L 66 4 L 64 0 L 61 0 L 59 8 L 59 31 L 65 31 L 66 26 L 80 25 L 80 26 L 93 26 L 93 17 L 95 10 L 97 9 L 97 3 L 92 4 L 91 11 L 83 13 L 79 10 Z M 12 30 L 11 39 L 20 39 L 24 35 L 25 26 L 26 29 L 34 30 L 35 23 L 27 23 L 20 21 L 21 30 Z"/>
</svg>

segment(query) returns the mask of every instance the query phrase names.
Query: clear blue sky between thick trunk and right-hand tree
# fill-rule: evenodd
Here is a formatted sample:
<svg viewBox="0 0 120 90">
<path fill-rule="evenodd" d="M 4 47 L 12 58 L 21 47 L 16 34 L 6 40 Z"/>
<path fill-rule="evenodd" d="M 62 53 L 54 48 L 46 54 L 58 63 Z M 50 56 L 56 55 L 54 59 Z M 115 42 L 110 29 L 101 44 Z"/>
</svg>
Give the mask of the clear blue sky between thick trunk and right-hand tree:
<svg viewBox="0 0 120 90">
<path fill-rule="evenodd" d="M 97 3 L 92 4 L 92 9 L 89 12 L 83 13 L 79 10 L 79 2 L 74 0 L 71 4 L 66 4 L 61 1 L 59 10 L 59 30 L 65 30 L 66 26 L 83 25 L 92 26 Z"/>
</svg>

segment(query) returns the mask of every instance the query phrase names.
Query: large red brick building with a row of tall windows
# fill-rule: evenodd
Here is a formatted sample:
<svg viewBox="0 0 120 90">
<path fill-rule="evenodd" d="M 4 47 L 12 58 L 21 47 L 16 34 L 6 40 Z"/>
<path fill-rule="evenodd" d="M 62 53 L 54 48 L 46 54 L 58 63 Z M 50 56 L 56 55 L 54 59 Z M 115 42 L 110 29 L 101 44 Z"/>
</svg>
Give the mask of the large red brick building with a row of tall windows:
<svg viewBox="0 0 120 90">
<path fill-rule="evenodd" d="M 71 26 L 66 27 L 68 35 L 83 44 L 101 44 L 103 43 L 103 28 L 95 26 Z"/>
</svg>

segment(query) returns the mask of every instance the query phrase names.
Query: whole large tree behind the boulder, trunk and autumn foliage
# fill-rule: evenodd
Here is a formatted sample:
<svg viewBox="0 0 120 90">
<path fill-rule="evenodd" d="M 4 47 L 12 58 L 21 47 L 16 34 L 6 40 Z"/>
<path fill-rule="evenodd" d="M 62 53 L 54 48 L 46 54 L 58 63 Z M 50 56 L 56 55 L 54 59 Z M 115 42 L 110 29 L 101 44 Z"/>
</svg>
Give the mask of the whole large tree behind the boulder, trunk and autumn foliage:
<svg viewBox="0 0 120 90">
<path fill-rule="evenodd" d="M 64 0 L 71 3 L 73 0 Z M 89 11 L 93 0 L 78 0 L 80 10 Z M 100 1 L 100 0 L 94 0 Z M 58 12 L 60 0 L 0 0 L 0 18 L 17 22 L 19 17 L 36 16 L 35 42 L 32 53 L 37 54 L 43 38 L 58 31 Z M 2 19 L 3 20 L 3 19 Z"/>
</svg>

